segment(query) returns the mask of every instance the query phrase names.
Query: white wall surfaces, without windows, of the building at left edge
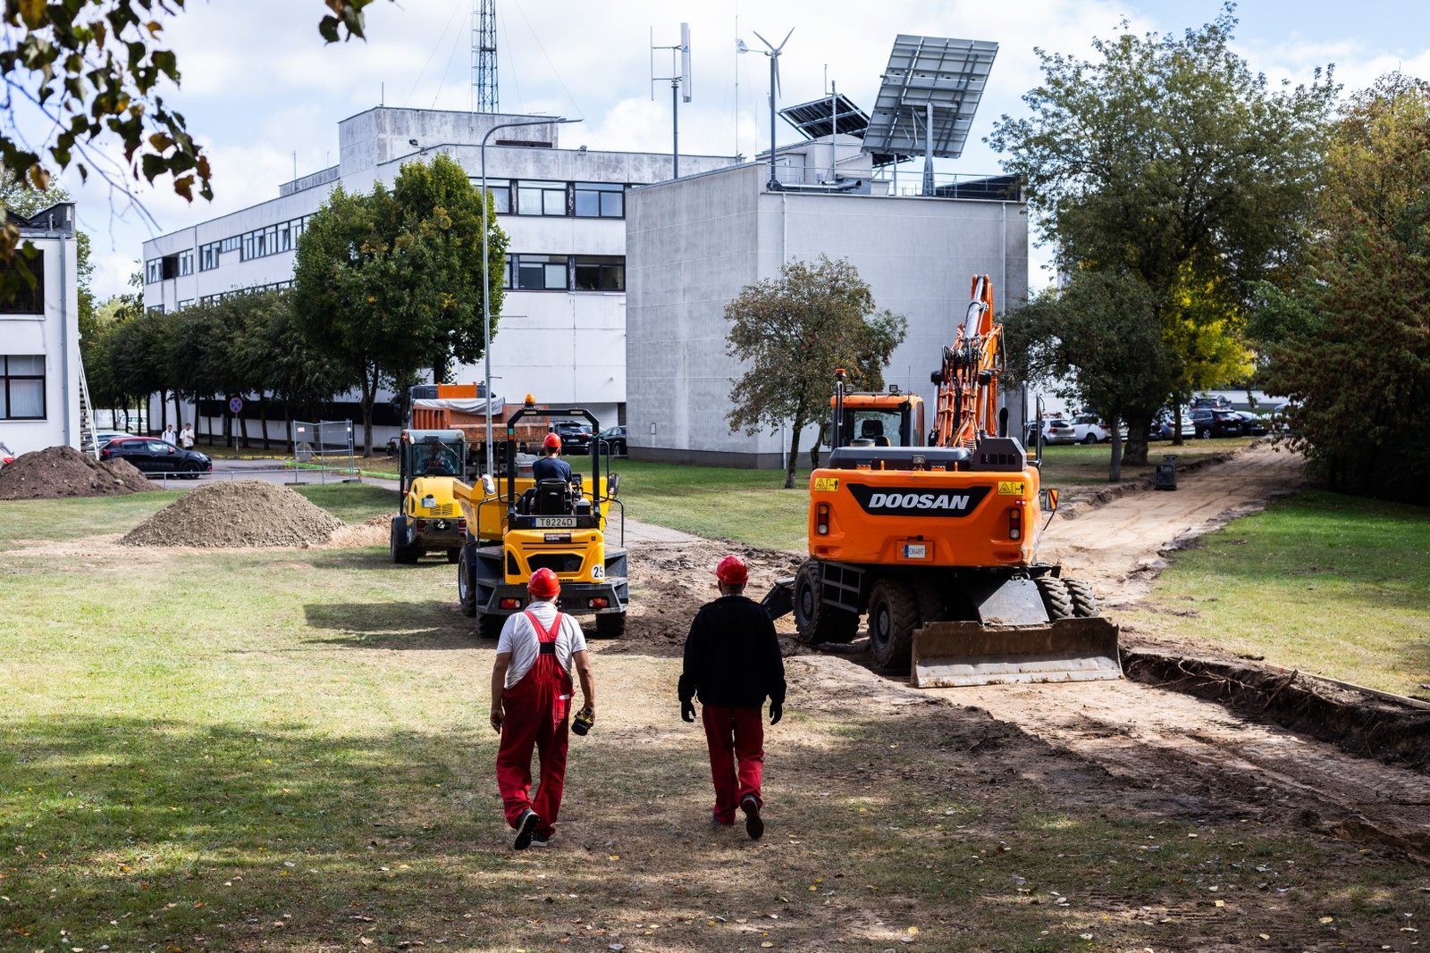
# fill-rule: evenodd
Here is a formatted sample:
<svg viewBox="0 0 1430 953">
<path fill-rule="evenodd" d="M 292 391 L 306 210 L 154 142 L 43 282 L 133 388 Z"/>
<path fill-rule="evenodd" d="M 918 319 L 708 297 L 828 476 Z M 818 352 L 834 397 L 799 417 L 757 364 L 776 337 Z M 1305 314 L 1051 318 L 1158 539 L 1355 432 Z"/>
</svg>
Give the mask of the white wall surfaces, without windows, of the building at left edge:
<svg viewBox="0 0 1430 953">
<path fill-rule="evenodd" d="M 50 217 L 53 213 L 53 226 Z M 80 329 L 74 206 L 64 203 L 30 219 L 44 227 L 20 229 L 44 260 L 44 304 L 33 314 L 0 314 L 0 356 L 43 357 L 44 417 L 0 417 L 0 443 L 14 456 L 80 443 Z"/>
</svg>

